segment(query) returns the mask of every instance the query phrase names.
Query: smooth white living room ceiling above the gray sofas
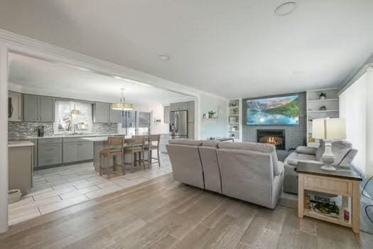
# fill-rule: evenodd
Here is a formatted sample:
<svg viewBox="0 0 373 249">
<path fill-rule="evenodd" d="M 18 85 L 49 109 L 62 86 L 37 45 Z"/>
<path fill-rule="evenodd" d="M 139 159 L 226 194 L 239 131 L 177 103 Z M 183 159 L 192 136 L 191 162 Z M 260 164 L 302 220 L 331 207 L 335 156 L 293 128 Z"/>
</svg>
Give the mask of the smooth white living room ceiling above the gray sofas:
<svg viewBox="0 0 373 249">
<path fill-rule="evenodd" d="M 0 28 L 222 97 L 333 87 L 373 52 L 372 0 L 283 2 L 1 1 Z"/>
</svg>

